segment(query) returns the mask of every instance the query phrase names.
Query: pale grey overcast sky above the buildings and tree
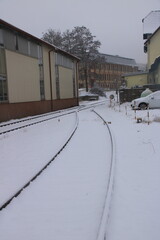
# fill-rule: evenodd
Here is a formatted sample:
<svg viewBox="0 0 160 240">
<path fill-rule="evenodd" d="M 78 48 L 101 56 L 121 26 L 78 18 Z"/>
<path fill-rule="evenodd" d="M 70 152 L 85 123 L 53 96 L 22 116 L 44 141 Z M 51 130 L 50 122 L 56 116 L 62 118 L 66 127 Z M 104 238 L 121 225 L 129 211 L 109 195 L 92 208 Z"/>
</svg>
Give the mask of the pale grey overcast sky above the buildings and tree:
<svg viewBox="0 0 160 240">
<path fill-rule="evenodd" d="M 0 0 L 0 18 L 39 38 L 49 28 L 85 26 L 100 52 L 146 62 L 142 19 L 160 0 Z"/>
</svg>

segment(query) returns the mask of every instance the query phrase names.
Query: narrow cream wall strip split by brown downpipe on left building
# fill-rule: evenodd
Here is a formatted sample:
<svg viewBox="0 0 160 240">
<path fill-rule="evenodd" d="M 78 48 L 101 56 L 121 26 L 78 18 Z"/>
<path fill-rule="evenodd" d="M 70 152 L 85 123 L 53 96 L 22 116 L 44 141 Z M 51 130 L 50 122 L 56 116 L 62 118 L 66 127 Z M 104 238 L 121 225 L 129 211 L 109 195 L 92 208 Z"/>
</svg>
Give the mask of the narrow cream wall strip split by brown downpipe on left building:
<svg viewBox="0 0 160 240">
<path fill-rule="evenodd" d="M 49 51 L 50 51 L 49 48 L 43 47 L 45 100 L 51 100 Z M 52 79 L 52 99 L 56 99 L 55 56 L 53 51 L 50 52 L 50 62 L 51 62 L 51 79 Z"/>
</svg>

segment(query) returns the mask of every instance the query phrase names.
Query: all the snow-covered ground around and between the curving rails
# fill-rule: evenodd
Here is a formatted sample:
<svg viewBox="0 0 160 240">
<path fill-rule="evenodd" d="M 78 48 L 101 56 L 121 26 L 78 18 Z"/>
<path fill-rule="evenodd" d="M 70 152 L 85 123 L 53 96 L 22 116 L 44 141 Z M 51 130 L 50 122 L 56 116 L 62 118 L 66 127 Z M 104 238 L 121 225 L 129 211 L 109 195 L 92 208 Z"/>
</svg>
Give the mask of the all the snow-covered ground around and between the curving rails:
<svg viewBox="0 0 160 240">
<path fill-rule="evenodd" d="M 87 103 L 81 103 L 84 104 Z M 112 102 L 110 106 L 109 100 L 95 110 L 111 122 L 116 147 L 106 239 L 160 239 L 160 110 L 150 110 L 148 118 L 147 110 L 135 113 L 129 103 L 119 107 Z M 97 240 L 108 183 L 110 141 L 106 126 L 90 109 L 78 114 L 79 128 L 69 145 L 0 212 L 0 239 Z M 137 123 L 136 117 L 143 121 Z M 54 138 L 60 139 L 60 145 L 64 141 L 62 129 L 66 129 L 67 137 L 74 121 L 74 116 L 70 116 L 60 128 L 53 121 L 42 132 L 40 126 L 33 126 L 32 130 L 1 136 L 0 200 L 5 199 L 6 189 L 9 193 L 13 187 L 17 188 L 17 183 L 21 184 L 23 177 L 19 178 L 19 174 L 27 177 L 27 172 L 32 171 L 35 154 L 39 166 L 50 158 L 52 147 L 54 154 Z M 41 150 L 43 139 L 45 148 Z M 22 154 L 23 160 L 29 161 L 26 172 L 26 163 L 24 168 L 18 166 Z M 37 166 L 34 162 L 34 171 Z M 10 168 L 14 169 L 12 173 Z"/>
</svg>

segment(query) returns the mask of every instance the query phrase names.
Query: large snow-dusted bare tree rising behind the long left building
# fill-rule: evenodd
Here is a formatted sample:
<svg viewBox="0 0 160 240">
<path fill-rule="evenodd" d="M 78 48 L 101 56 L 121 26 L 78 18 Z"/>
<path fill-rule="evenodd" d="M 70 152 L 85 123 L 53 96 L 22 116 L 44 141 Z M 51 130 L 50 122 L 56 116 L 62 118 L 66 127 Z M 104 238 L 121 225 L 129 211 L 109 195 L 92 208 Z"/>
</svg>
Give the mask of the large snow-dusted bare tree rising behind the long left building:
<svg viewBox="0 0 160 240">
<path fill-rule="evenodd" d="M 98 40 L 94 40 L 94 38 L 95 36 L 92 35 L 90 30 L 84 26 L 74 27 L 72 31 L 66 30 L 63 34 L 49 29 L 42 37 L 43 40 L 81 59 L 79 71 L 81 74 L 84 74 L 86 91 L 88 91 L 90 68 L 100 58 L 98 49 L 101 43 Z"/>
</svg>

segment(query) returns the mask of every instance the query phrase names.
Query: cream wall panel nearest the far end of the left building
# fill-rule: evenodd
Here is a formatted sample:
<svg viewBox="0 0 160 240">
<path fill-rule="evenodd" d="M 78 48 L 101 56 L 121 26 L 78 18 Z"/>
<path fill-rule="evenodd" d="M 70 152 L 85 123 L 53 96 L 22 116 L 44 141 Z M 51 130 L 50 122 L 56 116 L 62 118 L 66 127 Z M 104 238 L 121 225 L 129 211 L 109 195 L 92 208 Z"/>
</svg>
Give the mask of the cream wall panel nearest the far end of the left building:
<svg viewBox="0 0 160 240">
<path fill-rule="evenodd" d="M 60 98 L 73 98 L 73 70 L 59 66 Z"/>
</svg>

